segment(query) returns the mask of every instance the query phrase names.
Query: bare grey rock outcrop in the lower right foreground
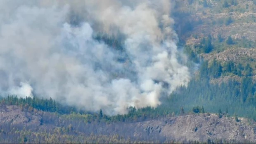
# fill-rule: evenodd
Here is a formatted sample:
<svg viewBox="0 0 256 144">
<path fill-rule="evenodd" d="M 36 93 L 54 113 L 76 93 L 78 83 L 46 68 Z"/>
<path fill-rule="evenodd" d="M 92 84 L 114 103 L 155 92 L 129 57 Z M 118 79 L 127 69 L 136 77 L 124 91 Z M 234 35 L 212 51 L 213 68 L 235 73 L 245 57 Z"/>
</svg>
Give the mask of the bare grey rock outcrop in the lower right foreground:
<svg viewBox="0 0 256 144">
<path fill-rule="evenodd" d="M 243 141 L 249 139 L 256 142 L 256 123 L 248 119 L 234 117 L 219 118 L 216 114 L 207 116 L 186 115 L 173 118 L 161 118 L 159 120 L 137 123 L 136 127 L 142 127 L 149 135 L 159 133 L 162 136 L 174 138 L 176 141 L 198 140 L 206 142 L 207 139 L 236 139 Z"/>
</svg>

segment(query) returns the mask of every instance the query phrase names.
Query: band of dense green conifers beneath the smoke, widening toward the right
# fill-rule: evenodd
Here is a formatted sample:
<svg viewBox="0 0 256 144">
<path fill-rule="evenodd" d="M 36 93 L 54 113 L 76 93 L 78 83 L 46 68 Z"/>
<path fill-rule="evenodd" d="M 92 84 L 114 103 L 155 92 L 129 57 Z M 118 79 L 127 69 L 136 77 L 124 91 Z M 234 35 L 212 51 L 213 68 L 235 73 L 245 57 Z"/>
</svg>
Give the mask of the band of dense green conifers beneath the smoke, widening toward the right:
<svg viewBox="0 0 256 144">
<path fill-rule="evenodd" d="M 22 109 L 38 109 L 58 114 L 87 114 L 88 122 L 100 118 L 101 121 L 143 121 L 153 119 L 159 116 L 168 116 L 170 114 L 178 115 L 180 107 L 185 109 L 186 113 L 192 111 L 194 106 L 203 106 L 205 111 L 217 113 L 218 109 L 228 109 L 230 115 L 243 116 L 256 120 L 256 84 L 250 77 L 251 67 L 249 65 L 234 64 L 232 62 L 221 65 L 213 60 L 210 64 L 205 61 L 201 64 L 199 77 L 190 80 L 187 87 L 180 86 L 170 95 L 162 98 L 162 105 L 159 107 L 145 107 L 135 109 L 130 107 L 128 114 L 107 116 L 104 109 L 100 110 L 100 115 L 88 111 L 76 109 L 61 105 L 55 100 L 49 100 L 38 97 L 18 98 L 17 96 L 7 96 L 2 98 L 3 105 L 17 105 Z M 211 84 L 211 77 L 220 77 L 225 74 L 241 74 L 242 82 L 233 79 L 227 83 Z M 103 112 L 102 112 L 103 111 Z"/>
</svg>

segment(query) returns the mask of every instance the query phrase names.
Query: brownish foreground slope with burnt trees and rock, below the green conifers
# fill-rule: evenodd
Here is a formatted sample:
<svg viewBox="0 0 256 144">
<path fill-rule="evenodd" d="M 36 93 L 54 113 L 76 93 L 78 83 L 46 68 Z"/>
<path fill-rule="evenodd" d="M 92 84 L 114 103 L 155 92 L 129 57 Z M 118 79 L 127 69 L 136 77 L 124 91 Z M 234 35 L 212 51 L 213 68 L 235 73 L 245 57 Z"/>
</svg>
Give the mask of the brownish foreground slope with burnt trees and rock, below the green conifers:
<svg viewBox="0 0 256 144">
<path fill-rule="evenodd" d="M 86 123 L 82 117 L 70 119 L 69 115 L 22 110 L 15 105 L 2 105 L 1 109 L 0 137 L 7 143 L 168 143 L 173 140 L 218 143 L 220 139 L 256 142 L 256 122 L 240 117 L 237 122 L 227 115 L 219 118 L 217 114 L 188 114 L 142 122 Z"/>
</svg>

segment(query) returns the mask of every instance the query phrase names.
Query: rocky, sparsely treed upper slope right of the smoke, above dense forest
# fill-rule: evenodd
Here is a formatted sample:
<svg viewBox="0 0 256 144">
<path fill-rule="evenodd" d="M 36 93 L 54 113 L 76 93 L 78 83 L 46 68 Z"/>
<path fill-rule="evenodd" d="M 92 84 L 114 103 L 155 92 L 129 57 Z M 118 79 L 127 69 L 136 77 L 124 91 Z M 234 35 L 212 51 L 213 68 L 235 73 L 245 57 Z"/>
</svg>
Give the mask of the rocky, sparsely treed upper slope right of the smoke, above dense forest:
<svg viewBox="0 0 256 144">
<path fill-rule="evenodd" d="M 255 0 L 177 1 L 176 29 L 189 57 L 197 63 L 196 56 L 209 62 L 216 59 L 222 64 L 249 64 L 255 79 L 255 7 Z M 230 75 L 221 74 L 218 82 L 229 78 Z"/>
</svg>

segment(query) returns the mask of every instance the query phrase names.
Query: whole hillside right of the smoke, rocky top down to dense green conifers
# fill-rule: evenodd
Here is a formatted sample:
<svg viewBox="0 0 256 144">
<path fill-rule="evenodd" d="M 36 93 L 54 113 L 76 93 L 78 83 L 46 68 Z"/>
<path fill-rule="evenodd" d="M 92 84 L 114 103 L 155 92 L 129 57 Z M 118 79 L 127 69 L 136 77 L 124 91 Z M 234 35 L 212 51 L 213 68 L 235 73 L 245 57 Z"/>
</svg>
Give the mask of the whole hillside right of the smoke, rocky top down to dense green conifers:
<svg viewBox="0 0 256 144">
<path fill-rule="evenodd" d="M 184 14 L 177 21 L 187 22 L 177 23 L 184 50 L 200 66 L 187 88 L 170 95 L 171 105 L 256 118 L 255 6 L 255 0 L 177 2 L 177 14 Z"/>
</svg>

